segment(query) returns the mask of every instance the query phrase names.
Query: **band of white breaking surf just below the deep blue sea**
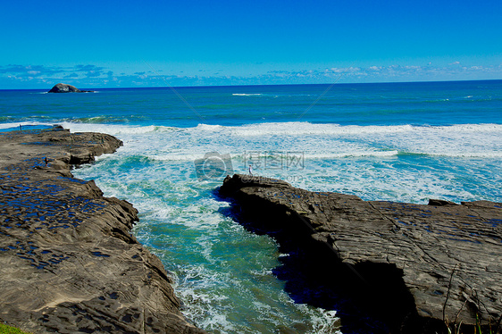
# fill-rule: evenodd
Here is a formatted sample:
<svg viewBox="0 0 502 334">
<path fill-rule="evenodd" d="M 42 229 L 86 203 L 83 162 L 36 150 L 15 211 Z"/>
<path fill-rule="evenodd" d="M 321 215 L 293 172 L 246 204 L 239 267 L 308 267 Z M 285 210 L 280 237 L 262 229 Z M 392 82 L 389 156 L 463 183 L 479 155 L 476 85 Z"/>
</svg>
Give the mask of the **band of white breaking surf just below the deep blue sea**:
<svg viewBox="0 0 502 334">
<path fill-rule="evenodd" d="M 16 124 L 17 126 L 17 124 Z M 500 158 L 502 125 L 460 124 L 444 127 L 340 126 L 307 122 L 263 123 L 194 128 L 63 123 L 72 131 L 101 131 L 157 161 L 190 161 L 207 152 L 242 160 L 247 152 L 302 152 L 305 159 L 392 157 L 427 154 Z M 5 125 L 4 127 L 9 127 Z"/>
</svg>

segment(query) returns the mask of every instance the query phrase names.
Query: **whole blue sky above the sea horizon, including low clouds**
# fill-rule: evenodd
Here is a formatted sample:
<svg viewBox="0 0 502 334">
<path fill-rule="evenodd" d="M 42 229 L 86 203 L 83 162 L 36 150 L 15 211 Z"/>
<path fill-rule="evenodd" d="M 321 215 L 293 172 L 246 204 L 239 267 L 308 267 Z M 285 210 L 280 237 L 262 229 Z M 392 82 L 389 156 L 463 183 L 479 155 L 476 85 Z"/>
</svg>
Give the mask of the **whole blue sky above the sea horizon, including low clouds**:
<svg viewBox="0 0 502 334">
<path fill-rule="evenodd" d="M 4 1 L 0 89 L 502 79 L 502 2 Z"/>
</svg>

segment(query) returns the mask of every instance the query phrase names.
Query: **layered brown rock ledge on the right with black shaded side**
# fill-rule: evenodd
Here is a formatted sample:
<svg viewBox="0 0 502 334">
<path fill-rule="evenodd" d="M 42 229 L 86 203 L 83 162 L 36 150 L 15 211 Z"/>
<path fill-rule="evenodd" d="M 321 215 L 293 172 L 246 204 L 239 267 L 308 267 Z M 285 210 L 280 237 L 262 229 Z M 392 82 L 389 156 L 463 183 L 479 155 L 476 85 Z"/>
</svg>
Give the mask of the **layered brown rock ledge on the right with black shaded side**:
<svg viewBox="0 0 502 334">
<path fill-rule="evenodd" d="M 468 330 L 476 317 L 493 333 L 498 329 L 501 203 L 364 201 L 237 174 L 223 181 L 219 193 L 234 202 L 236 212 L 316 248 L 311 261 L 320 274 L 345 272 L 347 289 L 361 292 L 387 317 L 392 332 L 441 333 L 445 322 L 460 321 Z"/>
</svg>

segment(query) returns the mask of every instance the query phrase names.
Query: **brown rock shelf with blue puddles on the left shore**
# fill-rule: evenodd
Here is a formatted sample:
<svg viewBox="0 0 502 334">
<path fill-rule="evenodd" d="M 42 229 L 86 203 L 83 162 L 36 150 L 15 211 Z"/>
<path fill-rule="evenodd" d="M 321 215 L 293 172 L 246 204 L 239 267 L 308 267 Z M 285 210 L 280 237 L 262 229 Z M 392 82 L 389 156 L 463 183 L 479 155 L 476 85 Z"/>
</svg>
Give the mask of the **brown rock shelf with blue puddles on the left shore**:
<svg viewBox="0 0 502 334">
<path fill-rule="evenodd" d="M 74 179 L 122 143 L 100 133 L 0 134 L 0 320 L 34 333 L 205 333 L 180 313 L 137 210 Z"/>
</svg>

